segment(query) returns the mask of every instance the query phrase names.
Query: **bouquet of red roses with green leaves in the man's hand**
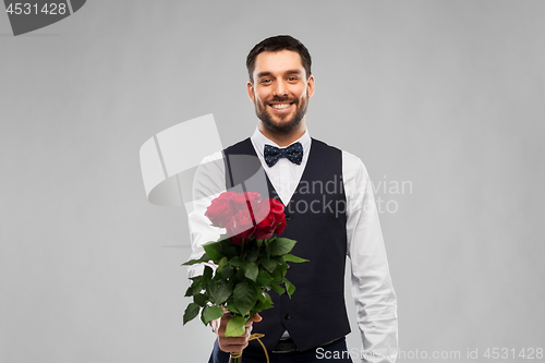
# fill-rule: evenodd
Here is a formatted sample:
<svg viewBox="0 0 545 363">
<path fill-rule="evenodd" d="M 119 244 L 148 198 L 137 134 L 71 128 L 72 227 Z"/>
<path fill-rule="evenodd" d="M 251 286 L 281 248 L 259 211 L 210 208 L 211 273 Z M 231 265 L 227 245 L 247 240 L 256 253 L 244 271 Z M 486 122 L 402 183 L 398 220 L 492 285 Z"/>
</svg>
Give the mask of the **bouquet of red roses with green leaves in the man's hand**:
<svg viewBox="0 0 545 363">
<path fill-rule="evenodd" d="M 219 241 L 203 245 L 198 259 L 183 265 L 210 264 L 202 276 L 193 277 L 185 297 L 193 297 L 183 315 L 183 324 L 201 313 L 206 325 L 223 315 L 234 316 L 227 325 L 226 336 L 244 334 L 252 315 L 272 307 L 268 291 L 291 294 L 295 287 L 286 278 L 287 262 L 307 262 L 289 254 L 295 241 L 274 237 L 286 228 L 283 204 L 262 198 L 259 193 L 225 192 L 211 201 L 205 216 L 215 227 L 226 228 Z"/>
</svg>

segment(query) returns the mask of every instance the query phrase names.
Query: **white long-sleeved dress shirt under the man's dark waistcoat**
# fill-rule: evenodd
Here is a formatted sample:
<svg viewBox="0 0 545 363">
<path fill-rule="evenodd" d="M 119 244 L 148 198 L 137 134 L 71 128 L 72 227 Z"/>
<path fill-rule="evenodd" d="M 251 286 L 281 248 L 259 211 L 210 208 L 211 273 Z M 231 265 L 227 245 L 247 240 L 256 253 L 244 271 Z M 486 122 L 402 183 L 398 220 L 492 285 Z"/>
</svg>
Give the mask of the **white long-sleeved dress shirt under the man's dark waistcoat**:
<svg viewBox="0 0 545 363">
<path fill-rule="evenodd" d="M 279 146 L 265 137 L 257 128 L 251 141 L 278 196 L 284 205 L 288 205 L 308 160 L 312 148 L 308 131 L 306 130 L 303 136 L 295 141 L 303 145 L 301 165 L 280 158 L 269 168 L 263 156 L 264 146 L 265 144 Z M 226 190 L 221 158 L 221 152 L 205 158 L 202 162 L 205 167 L 195 176 L 195 195 L 204 197 L 193 202 L 193 210 L 189 215 L 193 247 L 190 259 L 199 258 L 204 253 L 202 244 L 217 241 L 220 233 L 225 232 L 225 229 L 210 227 L 210 221 L 204 215 L 210 201 Z M 390 279 L 373 187 L 360 158 L 344 150 L 342 150 L 342 180 L 347 198 L 347 253 L 351 262 L 352 295 L 364 347 L 362 362 L 393 363 L 398 350 L 397 299 Z M 203 268 L 199 265 L 190 266 L 189 277 L 201 275 Z M 371 354 L 372 352 L 376 356 Z"/>
</svg>

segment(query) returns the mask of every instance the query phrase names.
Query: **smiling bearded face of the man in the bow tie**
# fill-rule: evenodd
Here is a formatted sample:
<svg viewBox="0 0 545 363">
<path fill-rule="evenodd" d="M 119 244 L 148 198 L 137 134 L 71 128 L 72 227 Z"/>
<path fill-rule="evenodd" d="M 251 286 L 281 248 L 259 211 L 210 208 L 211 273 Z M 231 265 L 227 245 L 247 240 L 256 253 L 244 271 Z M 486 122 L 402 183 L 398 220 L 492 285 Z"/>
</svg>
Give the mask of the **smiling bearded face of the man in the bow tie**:
<svg viewBox="0 0 545 363">
<path fill-rule="evenodd" d="M 306 77 L 299 53 L 280 50 L 257 55 L 253 78 L 247 94 L 257 118 L 274 133 L 290 133 L 304 118 L 314 93 L 314 77 Z"/>
</svg>

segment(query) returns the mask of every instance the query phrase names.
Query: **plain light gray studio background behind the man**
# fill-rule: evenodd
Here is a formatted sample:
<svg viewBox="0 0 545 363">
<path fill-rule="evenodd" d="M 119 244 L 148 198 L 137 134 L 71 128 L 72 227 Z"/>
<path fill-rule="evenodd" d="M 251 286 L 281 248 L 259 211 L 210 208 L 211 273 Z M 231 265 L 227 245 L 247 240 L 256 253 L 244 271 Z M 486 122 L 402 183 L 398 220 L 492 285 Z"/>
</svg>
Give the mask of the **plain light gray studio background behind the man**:
<svg viewBox="0 0 545 363">
<path fill-rule="evenodd" d="M 223 145 L 250 135 L 245 56 L 276 34 L 313 56 L 312 136 L 412 183 L 377 193 L 398 207 L 380 220 L 401 350 L 544 348 L 544 1 L 94 0 L 13 37 L 0 14 L 0 361 L 207 360 L 209 329 L 182 327 L 185 214 L 146 201 L 138 149 L 206 113 Z"/>
</svg>

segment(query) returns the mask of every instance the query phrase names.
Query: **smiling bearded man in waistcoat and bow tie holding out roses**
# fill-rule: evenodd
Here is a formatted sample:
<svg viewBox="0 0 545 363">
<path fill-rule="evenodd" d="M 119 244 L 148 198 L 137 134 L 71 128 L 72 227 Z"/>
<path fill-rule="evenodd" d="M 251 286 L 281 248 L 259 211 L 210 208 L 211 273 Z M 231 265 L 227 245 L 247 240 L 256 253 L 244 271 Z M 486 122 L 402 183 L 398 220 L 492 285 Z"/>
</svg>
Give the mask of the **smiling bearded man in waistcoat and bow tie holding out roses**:
<svg viewBox="0 0 545 363">
<path fill-rule="evenodd" d="M 344 340 L 350 332 L 343 292 L 347 255 L 365 349 L 362 359 L 395 362 L 397 356 L 397 301 L 371 180 L 359 158 L 310 137 L 305 113 L 315 86 L 311 63 L 307 49 L 291 36 L 257 44 L 246 59 L 257 128 L 252 137 L 205 159 L 215 167 L 195 178 L 196 193 L 211 198 L 219 190 L 245 183 L 256 166 L 263 168 L 266 183 L 259 192 L 284 204 L 289 221 L 282 237 L 296 240 L 292 253 L 310 259 L 288 270 L 298 288 L 293 297 L 271 293 L 275 306 L 253 316 L 244 336 L 225 337 L 228 313 L 213 322 L 218 336 L 214 363 L 228 362 L 229 352 L 243 349 L 245 363 L 265 362 L 259 344 L 249 343 L 250 331 L 265 335 L 271 362 L 352 362 Z M 247 158 L 237 162 L 238 156 L 253 157 L 256 166 L 249 167 Z M 219 159 L 225 164 L 211 162 Z M 202 255 L 202 243 L 217 239 L 203 216 L 210 198 L 195 202 L 190 214 L 191 258 Z M 196 274 L 190 269 L 190 276 Z"/>
</svg>

